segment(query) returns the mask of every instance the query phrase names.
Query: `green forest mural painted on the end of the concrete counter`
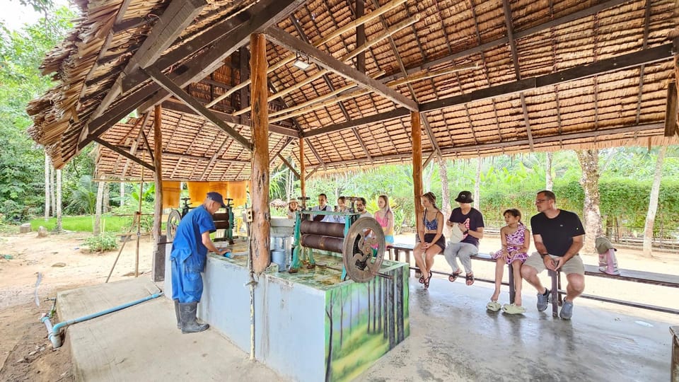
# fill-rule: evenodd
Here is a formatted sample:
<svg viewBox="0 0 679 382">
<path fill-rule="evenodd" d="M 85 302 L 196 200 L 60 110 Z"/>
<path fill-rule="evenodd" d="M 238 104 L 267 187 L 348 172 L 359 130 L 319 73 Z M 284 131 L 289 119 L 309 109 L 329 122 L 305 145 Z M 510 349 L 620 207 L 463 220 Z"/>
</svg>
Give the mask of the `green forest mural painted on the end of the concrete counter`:
<svg viewBox="0 0 679 382">
<path fill-rule="evenodd" d="M 392 279 L 345 282 L 325 294 L 325 381 L 351 381 L 410 335 L 408 268 L 389 262 Z"/>
</svg>

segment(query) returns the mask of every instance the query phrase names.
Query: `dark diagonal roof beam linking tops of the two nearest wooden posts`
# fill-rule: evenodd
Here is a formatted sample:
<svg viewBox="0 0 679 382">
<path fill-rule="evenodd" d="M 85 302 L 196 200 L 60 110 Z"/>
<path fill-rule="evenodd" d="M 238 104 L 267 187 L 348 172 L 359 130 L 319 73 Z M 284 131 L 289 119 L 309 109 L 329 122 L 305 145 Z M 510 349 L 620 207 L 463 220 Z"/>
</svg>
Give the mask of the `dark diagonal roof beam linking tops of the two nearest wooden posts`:
<svg viewBox="0 0 679 382">
<path fill-rule="evenodd" d="M 285 47 L 291 52 L 298 51 L 308 55 L 310 58 L 313 57 L 313 60 L 320 66 L 323 66 L 325 69 L 333 71 L 336 74 L 349 79 L 349 81 L 354 81 L 363 88 L 368 88 L 375 93 L 379 93 L 397 105 L 401 105 L 411 111 L 417 111 L 417 103 L 415 103 L 414 100 L 403 96 L 393 88 L 385 86 L 385 84 L 381 83 L 380 81 L 371 79 L 370 77 L 366 76 L 365 73 L 361 73 L 351 66 L 340 62 L 339 59 L 336 59 L 330 54 L 322 52 L 317 48 L 307 44 L 306 42 L 293 37 L 284 30 L 277 27 L 269 27 L 265 30 L 265 33 L 272 41 L 276 42 L 282 47 Z"/>
</svg>

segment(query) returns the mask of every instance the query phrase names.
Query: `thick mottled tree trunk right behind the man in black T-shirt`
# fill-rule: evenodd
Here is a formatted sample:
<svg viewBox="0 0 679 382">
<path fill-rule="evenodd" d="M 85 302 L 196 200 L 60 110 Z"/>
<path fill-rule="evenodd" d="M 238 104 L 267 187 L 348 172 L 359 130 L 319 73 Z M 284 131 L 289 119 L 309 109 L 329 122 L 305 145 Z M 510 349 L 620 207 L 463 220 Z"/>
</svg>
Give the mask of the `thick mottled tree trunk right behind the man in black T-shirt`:
<svg viewBox="0 0 679 382">
<path fill-rule="evenodd" d="M 599 212 L 599 151 L 579 150 L 576 151 L 580 167 L 582 168 L 582 178 L 580 184 L 585 192 L 584 201 L 584 226 L 585 243 L 584 253 L 596 253 L 594 241 L 602 234 L 601 214 Z"/>
</svg>

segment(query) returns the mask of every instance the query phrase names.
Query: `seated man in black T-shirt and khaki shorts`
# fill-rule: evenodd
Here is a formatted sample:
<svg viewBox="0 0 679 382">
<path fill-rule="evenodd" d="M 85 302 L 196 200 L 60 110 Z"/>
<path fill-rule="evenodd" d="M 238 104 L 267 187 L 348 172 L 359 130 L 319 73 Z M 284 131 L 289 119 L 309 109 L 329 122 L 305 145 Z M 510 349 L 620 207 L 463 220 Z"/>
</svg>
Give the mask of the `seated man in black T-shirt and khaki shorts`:
<svg viewBox="0 0 679 382">
<path fill-rule="evenodd" d="M 538 252 L 530 255 L 523 264 L 521 277 L 538 289 L 538 311 L 545 311 L 550 302 L 550 290 L 542 287 L 538 273 L 545 269 L 564 272 L 568 286 L 559 317 L 570 320 L 573 300 L 585 289 L 585 267 L 578 254 L 584 243 L 585 229 L 576 214 L 557 209 L 556 203 L 554 192 L 547 190 L 538 192 L 535 198 L 540 214 L 530 218 L 530 229 Z"/>
</svg>

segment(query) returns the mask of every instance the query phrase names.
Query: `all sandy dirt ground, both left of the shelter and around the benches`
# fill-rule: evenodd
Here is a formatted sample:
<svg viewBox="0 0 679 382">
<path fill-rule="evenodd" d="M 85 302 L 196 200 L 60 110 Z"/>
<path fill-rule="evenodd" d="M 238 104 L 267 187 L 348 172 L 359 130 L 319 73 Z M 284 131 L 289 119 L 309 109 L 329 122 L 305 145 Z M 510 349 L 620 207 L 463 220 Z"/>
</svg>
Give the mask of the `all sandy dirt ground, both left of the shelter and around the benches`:
<svg viewBox="0 0 679 382">
<path fill-rule="evenodd" d="M 23 233 L 0 237 L 0 381 L 74 381 L 71 371 L 69 343 L 53 350 L 47 340 L 45 325 L 40 316 L 52 308 L 56 292 L 84 285 L 105 282 L 118 251 L 88 253 L 82 249 L 86 233 L 62 233 L 38 238 L 37 233 Z M 398 236 L 396 241 L 408 243 L 413 236 Z M 121 243 L 122 244 L 122 243 Z M 125 244 L 111 281 L 134 277 L 136 241 Z M 151 271 L 151 238 L 142 236 L 139 243 L 139 273 Z M 480 251 L 490 252 L 500 247 L 499 238 L 486 237 Z M 596 264 L 597 257 L 584 255 L 588 264 Z M 668 274 L 679 274 L 679 254 L 656 251 L 653 258 L 642 257 L 640 250 L 617 251 L 620 267 Z M 494 278 L 494 265 L 474 262 L 477 277 Z M 437 256 L 436 270 L 450 269 L 442 256 Z M 40 274 L 40 284 L 36 283 Z M 506 280 L 506 272 L 505 272 Z M 546 280 L 546 278 L 545 278 Z M 458 280 L 459 282 L 459 280 Z M 483 284 L 483 283 L 480 283 Z M 489 284 L 483 284 L 489 287 Z M 37 300 L 40 306 L 36 305 Z M 586 293 L 629 299 L 652 305 L 672 306 L 675 290 L 629 282 L 591 277 Z M 489 290 L 489 296 L 492 290 Z M 524 283 L 523 294 L 534 294 Z M 503 293 L 502 298 L 506 298 Z M 621 297 L 622 296 L 622 297 Z M 503 301 L 506 302 L 506 301 Z M 596 301 L 591 305 L 633 313 L 640 317 L 676 323 L 674 315 L 613 306 Z M 484 306 L 485 302 L 481 305 Z"/>
</svg>

